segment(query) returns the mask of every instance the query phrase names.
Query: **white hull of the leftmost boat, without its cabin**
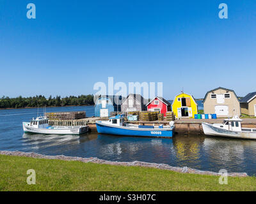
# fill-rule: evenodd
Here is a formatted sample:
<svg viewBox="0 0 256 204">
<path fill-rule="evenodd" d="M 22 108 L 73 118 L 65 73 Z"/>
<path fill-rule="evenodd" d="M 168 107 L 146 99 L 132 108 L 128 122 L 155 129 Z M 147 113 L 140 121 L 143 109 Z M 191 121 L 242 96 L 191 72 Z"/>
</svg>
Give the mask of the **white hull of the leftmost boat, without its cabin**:
<svg viewBox="0 0 256 204">
<path fill-rule="evenodd" d="M 38 133 L 44 135 L 81 135 L 88 132 L 88 126 L 49 126 L 47 128 L 33 128 L 29 122 L 23 122 L 23 131 L 25 133 Z"/>
</svg>

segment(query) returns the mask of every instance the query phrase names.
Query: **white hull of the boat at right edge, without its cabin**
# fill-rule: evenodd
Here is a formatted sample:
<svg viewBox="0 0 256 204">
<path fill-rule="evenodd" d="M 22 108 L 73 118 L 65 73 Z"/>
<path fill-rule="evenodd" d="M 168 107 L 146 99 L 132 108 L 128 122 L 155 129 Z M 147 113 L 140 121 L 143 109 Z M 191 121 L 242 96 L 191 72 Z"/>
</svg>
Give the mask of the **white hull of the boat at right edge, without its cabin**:
<svg viewBox="0 0 256 204">
<path fill-rule="evenodd" d="M 202 122 L 202 128 L 205 135 L 221 136 L 227 138 L 256 139 L 256 132 L 231 131 L 228 129 L 218 128 L 207 122 Z"/>
</svg>

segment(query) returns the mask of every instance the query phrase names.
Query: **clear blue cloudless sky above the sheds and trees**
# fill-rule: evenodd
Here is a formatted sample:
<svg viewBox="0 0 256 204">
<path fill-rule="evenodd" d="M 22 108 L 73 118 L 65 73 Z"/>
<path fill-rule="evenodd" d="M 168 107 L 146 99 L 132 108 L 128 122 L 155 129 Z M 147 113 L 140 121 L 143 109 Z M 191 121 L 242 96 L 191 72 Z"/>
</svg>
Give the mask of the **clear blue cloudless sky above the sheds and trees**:
<svg viewBox="0 0 256 204">
<path fill-rule="evenodd" d="M 255 61 L 255 0 L 0 0 L 0 96 L 92 94 L 108 77 L 163 82 L 166 99 L 182 87 L 244 96 L 256 91 Z"/>
</svg>

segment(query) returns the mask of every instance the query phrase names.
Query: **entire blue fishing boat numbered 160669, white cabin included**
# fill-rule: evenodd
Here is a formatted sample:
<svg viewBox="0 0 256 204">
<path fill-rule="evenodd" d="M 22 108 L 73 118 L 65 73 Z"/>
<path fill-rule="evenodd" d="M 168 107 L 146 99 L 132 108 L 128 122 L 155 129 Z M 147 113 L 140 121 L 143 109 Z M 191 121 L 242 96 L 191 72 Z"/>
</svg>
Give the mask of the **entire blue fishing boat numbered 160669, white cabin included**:
<svg viewBox="0 0 256 204">
<path fill-rule="evenodd" d="M 174 133 L 174 122 L 170 122 L 170 126 L 141 126 L 129 124 L 124 121 L 123 115 L 110 117 L 109 120 L 96 121 L 98 133 L 109 135 L 125 135 L 125 136 L 149 136 L 172 138 Z"/>
</svg>

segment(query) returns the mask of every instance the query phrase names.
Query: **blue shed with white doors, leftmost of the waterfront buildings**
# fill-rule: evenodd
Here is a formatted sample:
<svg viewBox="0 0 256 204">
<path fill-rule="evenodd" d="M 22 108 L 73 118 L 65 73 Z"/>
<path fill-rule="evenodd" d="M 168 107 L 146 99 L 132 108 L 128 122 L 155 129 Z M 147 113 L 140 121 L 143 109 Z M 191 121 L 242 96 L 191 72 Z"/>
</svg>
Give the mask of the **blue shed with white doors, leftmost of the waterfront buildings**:
<svg viewBox="0 0 256 204">
<path fill-rule="evenodd" d="M 117 98 L 119 98 L 118 102 Z M 94 105 L 95 117 L 109 117 L 111 112 L 117 112 L 117 110 L 121 112 L 123 100 L 122 96 L 100 96 Z"/>
</svg>

